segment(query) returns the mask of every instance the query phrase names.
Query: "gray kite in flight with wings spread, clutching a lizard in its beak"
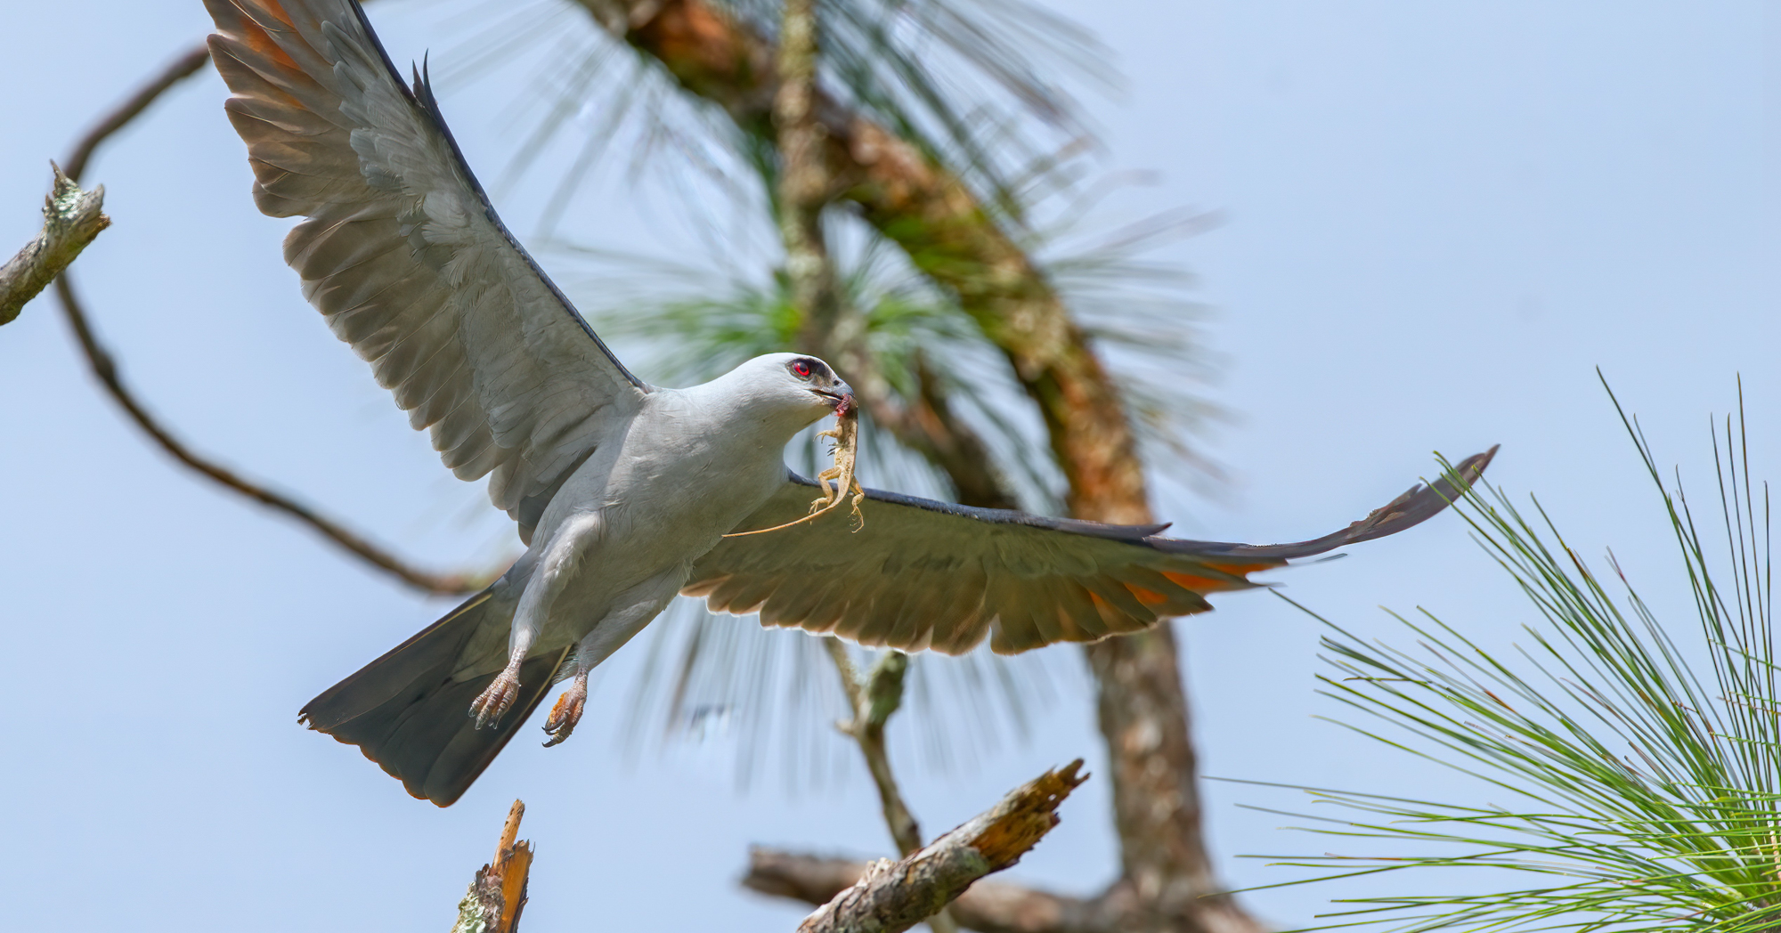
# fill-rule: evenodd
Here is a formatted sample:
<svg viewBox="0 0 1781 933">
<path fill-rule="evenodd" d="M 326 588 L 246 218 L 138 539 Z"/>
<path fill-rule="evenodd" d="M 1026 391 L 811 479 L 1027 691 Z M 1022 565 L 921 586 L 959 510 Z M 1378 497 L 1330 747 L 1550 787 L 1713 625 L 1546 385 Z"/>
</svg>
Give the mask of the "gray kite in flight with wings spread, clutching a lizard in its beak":
<svg viewBox="0 0 1781 933">
<path fill-rule="evenodd" d="M 285 260 L 335 335 L 429 429 L 525 554 L 486 591 L 303 707 L 410 794 L 449 807 L 552 684 L 549 741 L 588 673 L 677 595 L 762 625 L 907 652 L 1003 653 L 1138 632 L 1295 557 L 1403 531 L 1459 490 L 1416 486 L 1293 545 L 1163 538 L 867 490 L 846 516 L 768 534 L 817 484 L 784 449 L 853 406 L 814 356 L 777 353 L 659 388 L 613 354 L 495 215 L 422 73 L 403 80 L 354 0 L 205 0 L 255 203 L 305 217 Z M 1494 447 L 1462 461 L 1471 483 Z"/>
</svg>

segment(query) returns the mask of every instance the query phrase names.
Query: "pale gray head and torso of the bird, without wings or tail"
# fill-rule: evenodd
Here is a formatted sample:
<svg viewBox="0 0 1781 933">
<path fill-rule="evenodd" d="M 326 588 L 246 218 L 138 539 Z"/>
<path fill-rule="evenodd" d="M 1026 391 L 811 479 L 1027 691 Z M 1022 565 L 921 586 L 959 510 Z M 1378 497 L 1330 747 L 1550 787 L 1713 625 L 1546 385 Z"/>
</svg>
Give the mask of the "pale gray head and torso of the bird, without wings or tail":
<svg viewBox="0 0 1781 933">
<path fill-rule="evenodd" d="M 655 388 L 611 424 L 545 506 L 525 556 L 495 588 L 499 613 L 452 677 L 500 669 L 509 629 L 533 625 L 531 650 L 550 653 L 607 627 L 591 668 L 655 618 L 693 563 L 785 484 L 791 436 L 828 413 L 821 399 L 780 385 L 793 358 L 762 356 L 700 386 Z"/>
</svg>

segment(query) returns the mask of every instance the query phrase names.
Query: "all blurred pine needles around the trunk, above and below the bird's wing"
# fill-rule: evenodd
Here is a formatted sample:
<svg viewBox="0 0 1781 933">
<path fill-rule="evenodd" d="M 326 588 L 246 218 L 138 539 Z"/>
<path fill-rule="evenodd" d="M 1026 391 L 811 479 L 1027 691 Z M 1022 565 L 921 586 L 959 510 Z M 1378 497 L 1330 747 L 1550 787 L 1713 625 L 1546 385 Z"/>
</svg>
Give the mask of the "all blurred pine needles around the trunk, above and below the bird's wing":
<svg viewBox="0 0 1781 933">
<path fill-rule="evenodd" d="M 721 2 L 755 34 L 775 36 L 777 0 Z M 1167 214 L 1118 230 L 1097 230 L 1088 219 L 1131 182 L 1097 174 L 1097 144 L 1078 100 L 1115 85 L 1108 50 L 1026 0 L 823 0 L 817 12 L 823 91 L 962 178 L 988 223 L 1029 251 L 1104 347 L 1110 369 L 1124 376 L 1149 463 L 1190 481 L 1209 475 L 1183 443 L 1213 415 L 1199 395 L 1211 372 L 1195 349 L 1202 308 L 1184 297 L 1188 276 L 1140 258 L 1202 230 L 1208 217 Z M 769 126 L 739 126 L 689 96 L 577 4 L 459 2 L 449 28 L 463 28 L 465 39 L 435 57 L 445 85 L 516 62 L 533 69 L 509 116 L 516 146 L 495 191 L 525 180 L 554 146 L 568 148 L 556 150 L 568 169 L 547 196 L 534 242 L 570 260 L 570 292 L 602 337 L 625 347 L 632 369 L 650 381 L 691 385 L 750 356 L 791 349 L 800 319 L 773 217 L 778 153 Z M 663 260 L 581 242 L 597 242 L 598 223 L 566 219 L 577 192 L 600 173 L 622 174 L 627 196 L 639 201 L 668 191 L 670 201 L 650 203 L 647 214 L 689 230 L 702 255 Z M 951 292 L 846 208 L 830 208 L 825 228 L 844 313 L 864 324 L 892 393 L 907 402 L 917 370 L 926 374 L 985 440 L 1015 499 L 1058 513 L 1061 472 L 1004 354 Z M 949 479 L 926 459 L 869 420 L 862 427 L 862 481 L 951 497 Z M 814 431 L 794 442 L 791 458 L 807 475 L 817 470 Z M 794 782 L 821 780 L 835 766 L 826 755 L 848 751 L 821 735 L 846 703 L 812 639 L 766 632 L 752 620 L 714 620 L 689 600 L 654 630 L 630 716 L 638 748 L 650 735 L 730 737 L 737 775 L 748 780 L 778 742 Z M 1074 666 L 1061 671 L 1040 655 L 924 653 L 910 671 L 914 716 L 905 721 L 919 725 L 930 762 L 949 764 L 992 748 L 999 735 L 1022 734 L 1060 675 L 1070 673 Z M 960 709 L 978 714 L 958 716 Z"/>
</svg>

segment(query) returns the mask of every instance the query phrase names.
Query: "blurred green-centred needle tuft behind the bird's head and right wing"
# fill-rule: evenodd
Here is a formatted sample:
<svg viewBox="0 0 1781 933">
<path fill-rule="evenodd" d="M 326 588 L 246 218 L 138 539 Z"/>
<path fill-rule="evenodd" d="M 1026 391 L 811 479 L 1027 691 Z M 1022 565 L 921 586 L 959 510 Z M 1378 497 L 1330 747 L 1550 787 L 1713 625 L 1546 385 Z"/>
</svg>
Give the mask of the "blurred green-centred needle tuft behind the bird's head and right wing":
<svg viewBox="0 0 1781 933">
<path fill-rule="evenodd" d="M 602 264 L 625 262 L 584 255 Z M 1008 458 L 1004 463 L 1021 477 L 1028 500 L 1040 507 L 1054 504 L 1056 472 L 1047 459 L 1035 459 L 1044 447 L 1029 440 L 1038 426 L 1013 426 L 997 413 L 1019 399 L 1019 386 L 1006 360 L 971 319 L 924 280 L 901 272 L 901 256 L 883 240 L 862 240 L 837 256 L 844 301 L 862 313 L 867 345 L 892 388 L 905 397 L 914 392 L 915 360 L 923 356 L 930 377 L 946 381 L 955 408 L 965 410 L 964 417 Z M 657 267 L 648 278 L 650 283 L 627 288 L 622 306 L 595 312 L 593 322 L 602 335 L 639 349 L 638 369 L 650 377 L 677 385 L 709 379 L 752 356 L 785 349 L 800 326 L 782 272 L 766 285 L 718 285 L 707 281 L 709 274 L 673 265 Z M 686 297 L 675 297 L 673 283 Z M 789 449 L 793 468 L 805 475 L 826 463 L 816 427 Z M 874 486 L 947 495 L 944 475 L 885 431 L 871 429 L 869 418 L 860 472 Z M 752 618 L 711 616 L 696 600 L 680 600 L 654 630 L 645 677 L 632 696 L 634 750 L 655 737 L 734 739 L 743 783 L 775 757 L 794 785 L 823 783 L 837 767 L 842 773 L 851 767 L 855 753 L 828 735 L 830 723 L 846 714 L 846 698 L 817 639 L 769 632 Z M 1054 659 L 1038 653 L 1017 659 L 988 652 L 960 659 L 921 653 L 912 661 L 907 709 L 917 723 L 921 755 L 935 767 L 971 766 L 1003 737 L 1024 737 L 1028 719 L 1054 696 L 1060 677 L 1069 677 Z M 869 659 L 860 662 L 862 669 L 869 666 Z"/>
</svg>

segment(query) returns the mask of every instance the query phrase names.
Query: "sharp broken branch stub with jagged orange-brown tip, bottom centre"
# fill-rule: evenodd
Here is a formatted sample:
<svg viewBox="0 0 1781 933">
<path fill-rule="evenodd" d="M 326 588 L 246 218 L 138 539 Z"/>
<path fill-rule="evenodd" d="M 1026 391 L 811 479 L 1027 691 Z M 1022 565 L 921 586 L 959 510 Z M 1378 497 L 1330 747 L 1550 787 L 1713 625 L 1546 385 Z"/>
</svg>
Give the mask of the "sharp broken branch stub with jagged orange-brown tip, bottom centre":
<svg viewBox="0 0 1781 933">
<path fill-rule="evenodd" d="M 1058 805 L 1088 780 L 1078 776 L 1081 766 L 1078 759 L 1061 771 L 1045 771 L 901 862 L 871 862 L 853 887 L 810 913 L 798 933 L 898 933 L 931 917 L 978 878 L 1019 862 L 1058 824 Z"/>
</svg>

